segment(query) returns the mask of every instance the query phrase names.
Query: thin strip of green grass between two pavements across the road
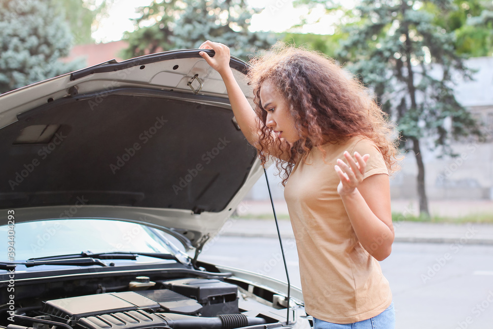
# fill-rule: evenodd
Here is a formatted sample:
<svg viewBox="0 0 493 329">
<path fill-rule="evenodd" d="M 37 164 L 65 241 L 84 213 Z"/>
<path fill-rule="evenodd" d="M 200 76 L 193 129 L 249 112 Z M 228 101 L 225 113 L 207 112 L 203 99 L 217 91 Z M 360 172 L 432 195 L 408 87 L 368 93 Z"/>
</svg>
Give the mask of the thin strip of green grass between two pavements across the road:
<svg viewBox="0 0 493 329">
<path fill-rule="evenodd" d="M 240 216 L 241 219 L 274 219 L 272 214 L 248 214 Z M 289 220 L 289 215 L 278 214 L 277 218 L 280 220 Z M 419 221 L 419 222 L 430 222 L 430 223 L 493 223 L 493 213 L 492 214 L 470 214 L 460 217 L 450 217 L 450 216 L 431 216 L 427 217 L 424 215 L 404 215 L 402 213 L 392 213 L 392 221 Z"/>
</svg>

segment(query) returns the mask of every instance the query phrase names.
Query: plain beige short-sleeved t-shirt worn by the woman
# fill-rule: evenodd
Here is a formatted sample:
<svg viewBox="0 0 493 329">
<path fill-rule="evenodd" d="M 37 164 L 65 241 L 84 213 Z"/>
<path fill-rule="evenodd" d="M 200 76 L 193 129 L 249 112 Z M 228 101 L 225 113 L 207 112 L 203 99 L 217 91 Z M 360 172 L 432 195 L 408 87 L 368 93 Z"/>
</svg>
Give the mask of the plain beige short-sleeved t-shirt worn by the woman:
<svg viewBox="0 0 493 329">
<path fill-rule="evenodd" d="M 306 312 L 327 322 L 347 324 L 372 318 L 391 303 L 379 262 L 358 242 L 337 192 L 334 169 L 343 153 L 370 154 L 364 177 L 387 174 L 382 153 L 368 139 L 327 143 L 325 163 L 314 147 L 298 161 L 284 189 L 296 238 Z"/>
</svg>

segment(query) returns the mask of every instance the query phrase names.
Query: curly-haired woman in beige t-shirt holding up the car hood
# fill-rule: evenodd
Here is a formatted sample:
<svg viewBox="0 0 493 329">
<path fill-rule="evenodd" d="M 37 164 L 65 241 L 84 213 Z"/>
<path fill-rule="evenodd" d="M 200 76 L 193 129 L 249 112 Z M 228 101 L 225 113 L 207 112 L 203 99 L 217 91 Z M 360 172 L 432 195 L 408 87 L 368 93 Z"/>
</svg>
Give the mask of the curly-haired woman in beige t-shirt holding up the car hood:
<svg viewBox="0 0 493 329">
<path fill-rule="evenodd" d="M 314 328 L 394 328 L 378 263 L 394 239 L 388 172 L 397 148 L 384 113 L 333 60 L 294 47 L 250 61 L 252 110 L 229 67 L 229 48 L 209 40 L 200 48 L 215 51 L 200 55 L 221 75 L 262 164 L 278 159 Z"/>
</svg>

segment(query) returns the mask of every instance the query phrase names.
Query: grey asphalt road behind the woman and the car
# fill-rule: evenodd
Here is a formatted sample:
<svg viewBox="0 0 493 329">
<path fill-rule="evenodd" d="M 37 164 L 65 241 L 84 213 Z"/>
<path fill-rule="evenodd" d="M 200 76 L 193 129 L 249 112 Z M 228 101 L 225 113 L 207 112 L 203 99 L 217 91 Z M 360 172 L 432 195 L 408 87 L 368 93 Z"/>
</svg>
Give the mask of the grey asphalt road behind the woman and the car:
<svg viewBox="0 0 493 329">
<path fill-rule="evenodd" d="M 291 284 L 300 287 L 294 239 L 283 239 Z M 279 240 L 221 236 L 199 259 L 286 281 Z M 492 329 L 493 246 L 394 243 L 381 262 L 396 329 Z"/>
</svg>

